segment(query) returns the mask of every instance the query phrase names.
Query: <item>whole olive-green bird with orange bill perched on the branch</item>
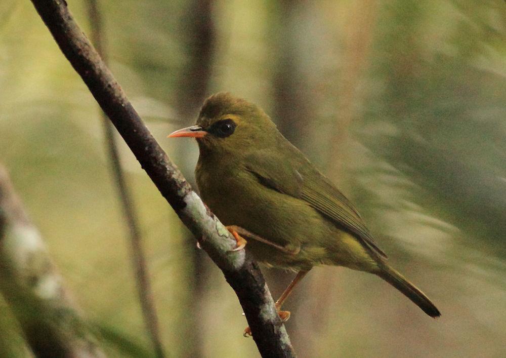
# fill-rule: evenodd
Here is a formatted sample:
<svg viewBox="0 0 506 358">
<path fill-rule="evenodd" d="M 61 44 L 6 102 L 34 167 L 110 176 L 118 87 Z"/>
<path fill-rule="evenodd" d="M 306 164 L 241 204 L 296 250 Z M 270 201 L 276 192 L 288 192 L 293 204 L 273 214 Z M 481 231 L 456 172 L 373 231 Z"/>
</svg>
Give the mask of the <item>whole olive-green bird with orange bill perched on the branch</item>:
<svg viewBox="0 0 506 358">
<path fill-rule="evenodd" d="M 298 271 L 276 308 L 316 265 L 373 273 L 431 317 L 427 296 L 386 262 L 354 205 L 320 173 L 255 104 L 218 93 L 203 104 L 197 123 L 169 137 L 194 137 L 202 200 L 256 260 Z"/>
</svg>

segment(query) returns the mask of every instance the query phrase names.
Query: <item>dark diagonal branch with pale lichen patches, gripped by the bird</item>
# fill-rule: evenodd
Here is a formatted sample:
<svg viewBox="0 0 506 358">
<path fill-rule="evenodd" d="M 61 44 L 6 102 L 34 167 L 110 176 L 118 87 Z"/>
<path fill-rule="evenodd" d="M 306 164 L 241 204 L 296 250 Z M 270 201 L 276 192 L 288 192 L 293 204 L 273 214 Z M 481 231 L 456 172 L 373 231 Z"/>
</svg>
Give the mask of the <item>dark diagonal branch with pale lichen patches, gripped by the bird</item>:
<svg viewBox="0 0 506 358">
<path fill-rule="evenodd" d="M 32 0 L 32 3 L 142 168 L 183 223 L 201 238 L 201 247 L 223 271 L 239 298 L 262 356 L 294 356 L 257 263 L 244 250 L 230 251 L 235 240 L 202 203 L 143 124 L 112 73 L 75 23 L 65 1 Z"/>
</svg>

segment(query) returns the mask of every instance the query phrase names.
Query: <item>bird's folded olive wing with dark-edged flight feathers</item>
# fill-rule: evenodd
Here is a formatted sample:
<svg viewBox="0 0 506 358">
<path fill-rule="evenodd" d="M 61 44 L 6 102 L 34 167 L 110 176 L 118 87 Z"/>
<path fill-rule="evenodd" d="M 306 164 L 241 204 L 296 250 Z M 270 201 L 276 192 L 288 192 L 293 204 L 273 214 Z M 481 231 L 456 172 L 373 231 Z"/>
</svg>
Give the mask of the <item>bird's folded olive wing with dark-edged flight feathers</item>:
<svg viewBox="0 0 506 358">
<path fill-rule="evenodd" d="M 346 196 L 318 172 L 300 152 L 293 154 L 292 161 L 288 161 L 267 151 L 257 151 L 247 156 L 245 167 L 263 185 L 304 200 L 335 224 L 353 233 L 362 244 L 387 258 L 385 252 L 374 242 L 362 218 Z M 296 158 L 298 156 L 300 157 Z M 293 165 L 291 162 L 298 163 Z"/>
</svg>

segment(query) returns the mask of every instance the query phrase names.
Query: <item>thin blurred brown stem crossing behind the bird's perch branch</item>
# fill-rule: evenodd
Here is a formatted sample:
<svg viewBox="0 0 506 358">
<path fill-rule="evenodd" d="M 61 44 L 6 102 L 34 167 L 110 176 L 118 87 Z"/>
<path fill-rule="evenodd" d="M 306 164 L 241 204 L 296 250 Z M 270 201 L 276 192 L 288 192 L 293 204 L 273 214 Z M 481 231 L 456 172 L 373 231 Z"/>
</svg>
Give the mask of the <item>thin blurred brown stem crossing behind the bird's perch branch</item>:
<svg viewBox="0 0 506 358">
<path fill-rule="evenodd" d="M 105 39 L 102 29 L 102 18 L 96 0 L 88 0 L 88 14 L 91 21 L 91 38 L 95 44 L 95 48 L 102 56 L 102 60 L 107 62 L 105 51 Z M 130 256 L 132 258 L 132 266 L 134 268 L 134 276 L 137 284 L 137 294 L 141 303 L 144 324 L 148 330 L 149 338 L 156 356 L 162 358 L 163 346 L 160 339 L 160 331 L 158 326 L 158 316 L 153 301 L 153 292 L 149 280 L 149 273 L 146 263 L 146 256 L 142 248 L 142 237 L 138 225 L 138 216 L 134 207 L 132 195 L 130 194 L 128 185 L 124 177 L 123 169 L 119 160 L 116 138 L 114 137 L 114 127 L 104 112 L 101 112 L 104 124 L 104 134 L 106 146 L 109 151 L 111 164 L 111 172 L 118 189 L 118 195 L 123 209 L 123 216 L 128 226 L 130 235 Z"/>
</svg>

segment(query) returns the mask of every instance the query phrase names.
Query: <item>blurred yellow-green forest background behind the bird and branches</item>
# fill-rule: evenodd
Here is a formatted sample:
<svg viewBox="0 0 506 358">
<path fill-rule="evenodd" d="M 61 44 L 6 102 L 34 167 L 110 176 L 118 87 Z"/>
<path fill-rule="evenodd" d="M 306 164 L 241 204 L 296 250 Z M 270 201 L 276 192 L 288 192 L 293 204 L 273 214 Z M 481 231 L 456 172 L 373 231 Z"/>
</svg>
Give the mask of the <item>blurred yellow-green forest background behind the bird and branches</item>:
<svg viewBox="0 0 506 358">
<path fill-rule="evenodd" d="M 89 33 L 86 1 L 68 3 Z M 196 144 L 166 135 L 218 91 L 260 104 L 442 312 L 429 319 L 372 275 L 316 268 L 286 304 L 300 356 L 506 355 L 503 1 L 100 6 L 113 73 L 191 182 Z M 166 352 L 257 356 L 232 289 L 119 142 Z M 0 3 L 0 162 L 106 352 L 149 356 L 100 111 L 28 1 Z M 273 296 L 292 276 L 264 272 Z M 23 355 L 0 310 L 0 346 Z"/>
</svg>

